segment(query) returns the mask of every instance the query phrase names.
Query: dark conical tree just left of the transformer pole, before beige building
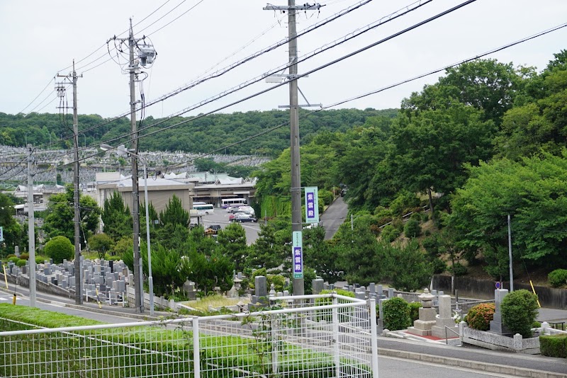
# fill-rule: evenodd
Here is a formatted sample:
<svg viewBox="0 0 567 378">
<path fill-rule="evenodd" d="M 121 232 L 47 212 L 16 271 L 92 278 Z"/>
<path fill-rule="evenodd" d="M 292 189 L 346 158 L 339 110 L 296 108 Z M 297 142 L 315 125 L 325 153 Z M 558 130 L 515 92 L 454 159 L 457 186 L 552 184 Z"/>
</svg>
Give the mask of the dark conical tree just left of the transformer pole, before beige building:
<svg viewBox="0 0 567 378">
<path fill-rule="evenodd" d="M 105 234 L 114 241 L 132 235 L 132 214 L 130 214 L 128 206 L 124 204 L 120 193 L 114 192 L 110 198 L 104 201 L 101 219 L 104 223 Z"/>
</svg>

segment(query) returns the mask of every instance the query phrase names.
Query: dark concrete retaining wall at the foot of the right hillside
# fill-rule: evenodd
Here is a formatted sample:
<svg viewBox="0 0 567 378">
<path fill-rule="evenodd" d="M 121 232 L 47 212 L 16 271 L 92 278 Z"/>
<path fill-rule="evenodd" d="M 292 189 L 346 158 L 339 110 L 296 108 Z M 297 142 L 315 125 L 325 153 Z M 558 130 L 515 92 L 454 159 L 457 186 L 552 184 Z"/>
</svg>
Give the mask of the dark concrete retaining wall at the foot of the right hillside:
<svg viewBox="0 0 567 378">
<path fill-rule="evenodd" d="M 433 289 L 451 292 L 450 275 L 434 275 Z M 510 282 L 503 282 L 503 289 L 510 289 Z M 532 287 L 521 282 L 514 282 L 514 289 L 532 291 Z M 539 303 L 543 307 L 552 309 L 567 309 L 567 290 L 554 287 L 534 286 Z M 478 299 L 494 299 L 495 281 L 478 280 L 471 277 L 455 277 L 455 290 L 459 290 L 459 297 L 472 297 Z"/>
</svg>

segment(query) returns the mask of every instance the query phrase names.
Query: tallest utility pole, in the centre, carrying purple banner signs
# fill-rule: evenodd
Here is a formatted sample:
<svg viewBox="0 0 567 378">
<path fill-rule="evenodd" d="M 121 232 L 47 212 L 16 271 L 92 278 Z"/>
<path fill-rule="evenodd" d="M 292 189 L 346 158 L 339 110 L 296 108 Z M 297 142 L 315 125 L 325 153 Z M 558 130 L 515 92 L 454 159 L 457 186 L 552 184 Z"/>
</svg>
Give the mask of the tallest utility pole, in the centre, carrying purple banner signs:
<svg viewBox="0 0 567 378">
<path fill-rule="evenodd" d="M 288 12 L 288 47 L 289 47 L 289 124 L 290 124 L 290 148 L 291 148 L 291 231 L 303 229 L 303 218 L 301 217 L 301 164 L 299 154 L 299 105 L 298 105 L 298 83 L 297 83 L 297 29 L 296 11 L 314 11 L 320 9 L 320 4 L 303 4 L 296 6 L 295 0 L 288 0 L 287 6 L 267 5 L 264 11 L 287 11 Z M 303 277 L 293 277 L 293 294 L 303 295 Z"/>
</svg>

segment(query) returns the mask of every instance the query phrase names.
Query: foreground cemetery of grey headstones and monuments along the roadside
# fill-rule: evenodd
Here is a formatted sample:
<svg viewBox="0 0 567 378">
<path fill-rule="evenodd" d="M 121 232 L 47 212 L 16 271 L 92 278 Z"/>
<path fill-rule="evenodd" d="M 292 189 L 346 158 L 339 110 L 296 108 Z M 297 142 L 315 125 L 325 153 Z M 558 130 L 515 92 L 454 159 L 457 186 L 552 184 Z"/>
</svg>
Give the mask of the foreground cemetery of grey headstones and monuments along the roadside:
<svg viewBox="0 0 567 378">
<path fill-rule="evenodd" d="M 133 274 L 123 261 L 115 260 L 82 260 L 81 277 L 83 282 L 84 300 L 86 302 L 99 302 L 110 306 L 131 307 L 134 304 Z M 29 261 L 25 266 L 18 267 L 9 262 L 6 265 L 6 280 L 18 286 L 28 286 Z M 61 264 L 54 264 L 52 260 L 37 264 L 36 284 L 38 290 L 57 294 L 65 297 L 74 296 L 74 264 L 64 260 Z M 4 277 L 3 277 L 4 278 Z M 237 304 L 227 307 L 235 313 L 245 311 L 257 311 L 270 307 L 278 298 L 289 297 L 287 291 L 276 292 L 274 285 L 268 286 L 266 277 L 254 277 L 254 291 L 247 290 L 245 297 L 239 297 L 240 282 L 245 277 L 242 273 L 235 273 L 235 286 L 226 293 L 227 297 L 242 299 Z M 392 287 L 383 287 L 370 283 L 368 287 L 358 284 L 349 285 L 347 282 L 335 282 L 329 284 L 321 278 L 312 282 L 313 294 L 320 294 L 323 290 L 344 290 L 352 293 L 352 297 L 358 300 L 374 299 L 376 301 L 378 334 L 386 337 L 408 338 L 410 340 L 422 340 L 429 343 L 443 343 L 447 345 L 462 345 L 468 343 L 490 350 L 508 350 L 516 353 L 538 354 L 539 336 L 553 334 L 567 334 L 566 331 L 551 328 L 549 323 L 542 323 L 539 328 L 534 328 L 533 337 L 522 338 L 519 333 L 511 333 L 503 323 L 501 304 L 508 294 L 508 290 L 497 289 L 493 300 L 478 301 L 476 299 L 464 299 L 451 297 L 442 291 L 425 288 L 422 293 L 397 292 Z M 190 300 L 198 299 L 198 290 L 195 282 L 186 281 L 181 288 L 185 296 Z M 218 294 L 220 290 L 215 288 Z M 385 307 L 388 300 L 401 298 L 405 302 L 417 302 L 420 304 L 418 317 L 410 325 L 403 329 L 388 330 L 386 323 Z M 155 309 L 165 311 L 179 311 L 180 309 L 191 309 L 186 304 L 167 300 L 162 297 L 154 298 Z M 464 315 L 469 309 L 478 304 L 494 304 L 493 320 L 487 331 L 475 329 L 464 321 Z M 144 293 L 145 308 L 150 306 L 149 294 Z M 210 310 L 218 310 L 212 308 Z M 368 318 L 368 314 L 359 314 L 361 318 Z"/>
</svg>

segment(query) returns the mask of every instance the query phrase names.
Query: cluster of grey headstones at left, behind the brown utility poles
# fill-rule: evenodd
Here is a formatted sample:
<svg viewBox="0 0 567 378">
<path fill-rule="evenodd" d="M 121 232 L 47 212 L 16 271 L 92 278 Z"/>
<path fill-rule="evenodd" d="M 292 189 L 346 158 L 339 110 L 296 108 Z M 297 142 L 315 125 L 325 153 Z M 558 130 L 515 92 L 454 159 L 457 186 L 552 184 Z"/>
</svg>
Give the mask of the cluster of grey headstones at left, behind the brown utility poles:
<svg viewBox="0 0 567 378">
<path fill-rule="evenodd" d="M 128 282 L 133 282 L 133 277 L 123 261 L 113 260 L 82 260 L 82 277 L 84 292 L 87 297 L 98 297 L 103 302 L 117 302 L 122 298 Z M 8 263 L 8 272 L 11 275 L 28 275 L 30 270 L 29 260 L 21 268 L 14 263 Z M 44 283 L 61 287 L 62 289 L 74 289 L 75 268 L 72 261 L 63 260 L 62 264 L 54 264 L 53 260 L 36 264 L 35 278 Z M 128 280 L 127 280 L 128 278 Z"/>
</svg>

